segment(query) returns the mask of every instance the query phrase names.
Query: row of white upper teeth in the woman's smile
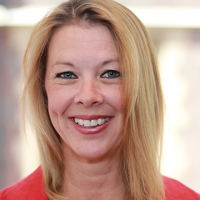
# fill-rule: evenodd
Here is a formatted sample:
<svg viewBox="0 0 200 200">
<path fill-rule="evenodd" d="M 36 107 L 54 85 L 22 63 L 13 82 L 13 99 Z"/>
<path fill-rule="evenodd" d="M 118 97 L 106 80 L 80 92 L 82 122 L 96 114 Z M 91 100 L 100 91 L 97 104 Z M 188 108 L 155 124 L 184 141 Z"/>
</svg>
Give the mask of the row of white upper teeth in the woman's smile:
<svg viewBox="0 0 200 200">
<path fill-rule="evenodd" d="M 109 120 L 110 120 L 109 117 L 103 118 L 103 119 L 92 119 L 92 120 L 83 120 L 83 119 L 74 118 L 74 121 L 76 124 L 80 126 L 86 126 L 86 127 L 102 125 L 108 122 Z"/>
</svg>

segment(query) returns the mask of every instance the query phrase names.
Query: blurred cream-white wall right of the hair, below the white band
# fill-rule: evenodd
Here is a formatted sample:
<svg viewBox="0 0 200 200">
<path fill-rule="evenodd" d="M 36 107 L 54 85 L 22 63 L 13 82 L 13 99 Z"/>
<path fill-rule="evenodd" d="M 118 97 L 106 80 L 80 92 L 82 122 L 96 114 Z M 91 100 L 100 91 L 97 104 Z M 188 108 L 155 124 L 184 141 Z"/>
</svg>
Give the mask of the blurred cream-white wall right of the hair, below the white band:
<svg viewBox="0 0 200 200">
<path fill-rule="evenodd" d="M 150 30 L 166 101 L 162 172 L 200 192 L 200 30 Z"/>
</svg>

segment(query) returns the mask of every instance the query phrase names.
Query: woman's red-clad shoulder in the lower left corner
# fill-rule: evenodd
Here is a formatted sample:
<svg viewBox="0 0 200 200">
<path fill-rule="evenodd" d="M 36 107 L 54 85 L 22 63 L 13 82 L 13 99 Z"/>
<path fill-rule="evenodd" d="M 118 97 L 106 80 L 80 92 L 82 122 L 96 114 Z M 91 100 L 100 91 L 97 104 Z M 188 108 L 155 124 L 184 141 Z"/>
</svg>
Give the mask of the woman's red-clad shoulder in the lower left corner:
<svg viewBox="0 0 200 200">
<path fill-rule="evenodd" d="M 39 167 L 28 177 L 0 191 L 1 200 L 47 200 Z"/>
</svg>

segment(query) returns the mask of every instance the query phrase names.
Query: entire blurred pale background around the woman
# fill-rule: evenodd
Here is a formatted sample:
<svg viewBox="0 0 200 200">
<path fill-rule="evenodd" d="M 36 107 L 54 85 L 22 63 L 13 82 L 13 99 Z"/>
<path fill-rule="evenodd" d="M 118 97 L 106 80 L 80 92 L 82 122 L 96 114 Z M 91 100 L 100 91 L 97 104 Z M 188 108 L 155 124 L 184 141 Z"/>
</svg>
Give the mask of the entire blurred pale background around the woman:
<svg viewBox="0 0 200 200">
<path fill-rule="evenodd" d="M 38 165 L 20 126 L 21 63 L 33 25 L 58 0 L 0 0 L 0 189 Z M 162 174 L 200 193 L 200 1 L 118 0 L 148 28 L 166 100 Z"/>
</svg>

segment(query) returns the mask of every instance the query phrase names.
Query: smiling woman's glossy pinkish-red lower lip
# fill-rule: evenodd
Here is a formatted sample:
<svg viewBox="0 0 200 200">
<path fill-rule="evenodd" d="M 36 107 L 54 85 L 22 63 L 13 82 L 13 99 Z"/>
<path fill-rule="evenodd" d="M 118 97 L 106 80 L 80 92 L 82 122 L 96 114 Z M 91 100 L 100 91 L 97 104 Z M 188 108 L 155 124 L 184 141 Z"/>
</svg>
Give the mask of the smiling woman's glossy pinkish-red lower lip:
<svg viewBox="0 0 200 200">
<path fill-rule="evenodd" d="M 110 120 L 106 122 L 105 124 L 94 126 L 94 127 L 80 126 L 76 124 L 73 120 L 72 120 L 72 124 L 79 133 L 84 134 L 84 135 L 94 135 L 94 134 L 98 134 L 102 132 L 109 125 Z"/>
</svg>

